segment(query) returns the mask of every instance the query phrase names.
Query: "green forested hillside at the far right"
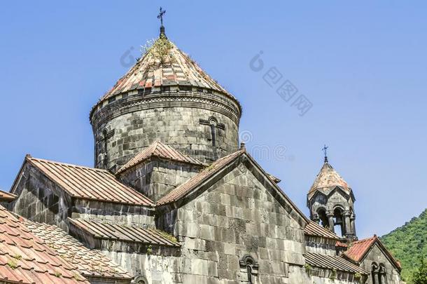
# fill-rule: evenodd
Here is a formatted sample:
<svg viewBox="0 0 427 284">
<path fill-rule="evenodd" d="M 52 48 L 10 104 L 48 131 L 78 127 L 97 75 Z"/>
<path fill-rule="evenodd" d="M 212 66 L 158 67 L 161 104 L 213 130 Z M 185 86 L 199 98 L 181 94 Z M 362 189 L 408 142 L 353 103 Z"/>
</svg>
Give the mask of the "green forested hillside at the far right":
<svg viewBox="0 0 427 284">
<path fill-rule="evenodd" d="M 381 241 L 402 263 L 402 276 L 412 283 L 411 275 L 421 257 L 427 257 L 427 209 L 411 221 L 389 234 Z"/>
</svg>

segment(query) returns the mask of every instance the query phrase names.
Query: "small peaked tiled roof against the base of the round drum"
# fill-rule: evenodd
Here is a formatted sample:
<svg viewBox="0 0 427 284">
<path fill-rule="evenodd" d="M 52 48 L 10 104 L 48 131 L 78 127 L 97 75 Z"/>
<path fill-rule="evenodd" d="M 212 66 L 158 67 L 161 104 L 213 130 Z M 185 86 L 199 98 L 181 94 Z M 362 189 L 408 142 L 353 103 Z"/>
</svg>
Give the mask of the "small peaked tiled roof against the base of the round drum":
<svg viewBox="0 0 427 284">
<path fill-rule="evenodd" d="M 195 165 L 202 165 L 200 161 L 197 161 L 195 158 L 190 156 L 185 156 L 181 154 L 178 150 L 170 147 L 169 145 L 165 145 L 162 142 L 154 142 L 150 146 L 146 147 L 146 149 L 142 150 L 137 156 L 134 156 L 129 162 L 123 165 L 120 170 L 116 173 L 123 173 L 125 170 L 134 167 L 148 158 L 158 157 L 158 158 L 166 158 L 172 161 L 179 161 L 181 163 L 192 163 Z"/>
</svg>

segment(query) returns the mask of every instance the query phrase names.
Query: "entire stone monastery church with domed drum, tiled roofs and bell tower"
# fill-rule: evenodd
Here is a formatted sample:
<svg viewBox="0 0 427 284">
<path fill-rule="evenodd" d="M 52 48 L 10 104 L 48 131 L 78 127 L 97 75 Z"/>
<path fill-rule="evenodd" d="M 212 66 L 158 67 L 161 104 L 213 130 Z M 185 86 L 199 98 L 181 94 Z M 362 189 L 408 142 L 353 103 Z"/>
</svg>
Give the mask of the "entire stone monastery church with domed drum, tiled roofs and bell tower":
<svg viewBox="0 0 427 284">
<path fill-rule="evenodd" d="M 240 116 L 162 25 L 90 111 L 94 168 L 27 155 L 1 192 L 0 282 L 402 283 L 328 160 L 305 216 L 239 144 Z"/>
</svg>

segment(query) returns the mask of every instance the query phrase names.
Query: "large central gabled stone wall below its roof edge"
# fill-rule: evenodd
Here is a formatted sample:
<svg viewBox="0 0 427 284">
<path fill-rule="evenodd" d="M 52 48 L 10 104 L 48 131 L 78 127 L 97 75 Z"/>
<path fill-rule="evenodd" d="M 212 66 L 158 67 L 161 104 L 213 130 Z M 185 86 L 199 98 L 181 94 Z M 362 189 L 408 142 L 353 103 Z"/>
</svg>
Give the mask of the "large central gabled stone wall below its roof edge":
<svg viewBox="0 0 427 284">
<path fill-rule="evenodd" d="M 246 283 L 245 255 L 259 265 L 253 283 L 289 283 L 288 266 L 304 265 L 302 226 L 242 167 L 166 219 L 183 245 L 183 283 Z"/>
</svg>

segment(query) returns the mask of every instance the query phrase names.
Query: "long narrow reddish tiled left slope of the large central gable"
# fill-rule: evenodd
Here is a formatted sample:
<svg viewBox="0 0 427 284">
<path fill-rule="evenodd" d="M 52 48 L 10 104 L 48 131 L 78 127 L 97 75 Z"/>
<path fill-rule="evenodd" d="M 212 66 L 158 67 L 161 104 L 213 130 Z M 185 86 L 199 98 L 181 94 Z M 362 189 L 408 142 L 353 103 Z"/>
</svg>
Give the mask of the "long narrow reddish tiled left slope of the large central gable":
<svg viewBox="0 0 427 284">
<path fill-rule="evenodd" d="M 190 178 L 190 180 L 181 184 L 179 187 L 176 187 L 176 189 L 173 189 L 171 192 L 169 192 L 169 194 L 160 198 L 160 200 L 157 202 L 157 205 L 164 205 L 179 200 L 179 198 L 188 194 L 190 191 L 195 189 L 195 187 L 197 187 L 198 185 L 202 184 L 202 182 L 207 180 L 209 177 L 211 177 L 215 173 L 218 173 L 219 170 L 225 167 L 225 165 L 228 165 L 230 161 L 233 161 L 242 153 L 244 153 L 244 150 L 235 151 L 234 153 L 228 156 L 216 160 L 214 163 L 209 165 L 209 167 L 202 170 L 202 172 Z"/>
</svg>

